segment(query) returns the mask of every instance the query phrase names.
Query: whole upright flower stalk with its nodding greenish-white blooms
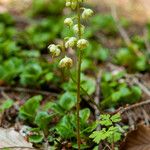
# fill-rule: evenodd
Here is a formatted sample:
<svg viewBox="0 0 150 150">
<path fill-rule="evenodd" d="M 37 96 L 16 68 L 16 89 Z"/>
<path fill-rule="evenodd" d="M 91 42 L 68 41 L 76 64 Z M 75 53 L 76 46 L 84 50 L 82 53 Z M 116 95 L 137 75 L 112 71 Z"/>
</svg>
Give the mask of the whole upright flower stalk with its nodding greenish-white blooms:
<svg viewBox="0 0 150 150">
<path fill-rule="evenodd" d="M 81 7 L 84 0 L 66 0 L 66 7 L 76 11 L 76 17 L 66 18 L 64 24 L 73 29 L 75 37 L 65 37 L 63 45 L 51 44 L 48 48 L 54 57 L 60 56 L 60 53 L 65 53 L 68 48 L 77 48 L 77 104 L 76 104 L 76 114 L 77 114 L 77 145 L 78 150 L 81 148 L 81 137 L 80 137 L 80 101 L 81 101 L 81 64 L 82 64 L 82 53 L 84 49 L 88 46 L 88 41 L 83 39 L 83 34 L 85 27 L 81 24 L 81 19 L 87 20 L 93 15 L 91 9 L 86 9 Z M 82 12 L 81 12 L 82 11 Z M 59 67 L 61 69 L 70 69 L 73 66 L 73 60 L 64 54 L 63 58 L 59 62 Z M 84 90 L 86 93 L 86 91 Z"/>
</svg>

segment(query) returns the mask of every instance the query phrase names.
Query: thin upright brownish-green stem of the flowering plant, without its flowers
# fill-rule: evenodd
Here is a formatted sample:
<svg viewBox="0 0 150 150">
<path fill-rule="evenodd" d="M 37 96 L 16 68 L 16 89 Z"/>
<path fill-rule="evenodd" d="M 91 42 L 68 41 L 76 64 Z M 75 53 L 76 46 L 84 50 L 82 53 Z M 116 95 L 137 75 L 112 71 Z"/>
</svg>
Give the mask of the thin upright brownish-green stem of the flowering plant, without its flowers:
<svg viewBox="0 0 150 150">
<path fill-rule="evenodd" d="M 78 19 L 78 39 L 81 39 L 81 18 L 80 18 L 80 3 L 77 0 L 77 19 Z M 81 63 L 82 56 L 81 50 L 78 50 L 78 68 L 77 68 L 77 144 L 78 150 L 80 150 L 81 139 L 80 139 L 80 86 L 81 86 Z"/>
</svg>

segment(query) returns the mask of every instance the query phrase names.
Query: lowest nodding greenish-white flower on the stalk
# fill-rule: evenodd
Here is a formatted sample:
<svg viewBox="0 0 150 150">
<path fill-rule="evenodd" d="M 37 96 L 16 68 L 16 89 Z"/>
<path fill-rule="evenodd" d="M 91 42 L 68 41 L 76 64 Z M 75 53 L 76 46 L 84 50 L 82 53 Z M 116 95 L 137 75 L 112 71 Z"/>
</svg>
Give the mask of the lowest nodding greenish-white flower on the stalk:
<svg viewBox="0 0 150 150">
<path fill-rule="evenodd" d="M 65 56 L 60 62 L 59 67 L 60 68 L 71 68 L 73 65 L 73 61 L 71 58 Z"/>
</svg>

